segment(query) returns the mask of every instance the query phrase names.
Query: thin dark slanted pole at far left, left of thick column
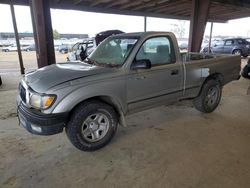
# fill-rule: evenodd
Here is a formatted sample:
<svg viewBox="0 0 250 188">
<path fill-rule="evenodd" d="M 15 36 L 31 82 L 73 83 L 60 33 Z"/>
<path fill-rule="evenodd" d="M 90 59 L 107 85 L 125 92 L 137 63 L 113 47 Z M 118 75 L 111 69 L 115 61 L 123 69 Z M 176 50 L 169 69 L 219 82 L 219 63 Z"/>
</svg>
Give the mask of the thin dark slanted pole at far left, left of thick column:
<svg viewBox="0 0 250 188">
<path fill-rule="evenodd" d="M 17 30 L 15 10 L 14 10 L 14 5 L 13 5 L 12 2 L 10 4 L 10 11 L 11 11 L 11 16 L 12 16 L 13 28 L 14 28 L 14 32 L 15 32 L 16 46 L 17 46 L 20 70 L 21 70 L 21 74 L 24 74 L 23 58 L 22 58 L 20 41 L 19 41 L 19 34 L 18 34 L 18 30 Z"/>
</svg>

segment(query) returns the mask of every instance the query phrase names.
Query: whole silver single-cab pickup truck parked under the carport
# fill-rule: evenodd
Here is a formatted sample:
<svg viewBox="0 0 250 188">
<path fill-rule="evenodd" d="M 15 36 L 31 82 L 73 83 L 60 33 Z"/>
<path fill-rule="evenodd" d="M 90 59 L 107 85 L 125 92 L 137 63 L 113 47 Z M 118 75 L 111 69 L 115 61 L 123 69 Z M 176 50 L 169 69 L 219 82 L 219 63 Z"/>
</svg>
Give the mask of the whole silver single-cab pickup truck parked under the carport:
<svg viewBox="0 0 250 188">
<path fill-rule="evenodd" d="M 20 81 L 20 124 L 52 135 L 64 129 L 80 150 L 105 146 L 125 116 L 183 99 L 201 112 L 218 106 L 223 85 L 239 78 L 234 55 L 180 54 L 169 32 L 129 33 L 103 41 L 83 62 L 47 66 Z"/>
</svg>

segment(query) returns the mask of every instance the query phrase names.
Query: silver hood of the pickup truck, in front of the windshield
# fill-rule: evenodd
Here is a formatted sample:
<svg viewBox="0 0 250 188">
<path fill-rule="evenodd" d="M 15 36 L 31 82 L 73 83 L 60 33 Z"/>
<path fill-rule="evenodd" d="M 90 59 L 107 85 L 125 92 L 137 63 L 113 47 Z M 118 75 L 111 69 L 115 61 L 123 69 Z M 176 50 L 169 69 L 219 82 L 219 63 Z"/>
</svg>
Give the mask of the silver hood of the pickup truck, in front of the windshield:
<svg viewBox="0 0 250 188">
<path fill-rule="evenodd" d="M 44 93 L 51 87 L 67 81 L 108 72 L 113 72 L 113 69 L 78 62 L 61 63 L 27 73 L 25 82 L 34 91 Z"/>
</svg>

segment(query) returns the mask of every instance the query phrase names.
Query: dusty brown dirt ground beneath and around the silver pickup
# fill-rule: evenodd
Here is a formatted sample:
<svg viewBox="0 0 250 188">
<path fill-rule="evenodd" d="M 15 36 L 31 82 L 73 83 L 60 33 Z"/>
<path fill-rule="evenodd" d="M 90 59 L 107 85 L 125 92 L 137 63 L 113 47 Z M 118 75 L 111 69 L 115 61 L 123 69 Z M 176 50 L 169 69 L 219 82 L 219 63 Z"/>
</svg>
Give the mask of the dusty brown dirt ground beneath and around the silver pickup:
<svg viewBox="0 0 250 188">
<path fill-rule="evenodd" d="M 65 133 L 35 136 L 19 127 L 15 97 L 20 76 L 10 71 L 2 79 L 1 188 L 250 185 L 250 80 L 226 85 L 211 114 L 183 101 L 131 115 L 128 127 L 120 127 L 108 146 L 87 153 L 75 149 Z"/>
</svg>

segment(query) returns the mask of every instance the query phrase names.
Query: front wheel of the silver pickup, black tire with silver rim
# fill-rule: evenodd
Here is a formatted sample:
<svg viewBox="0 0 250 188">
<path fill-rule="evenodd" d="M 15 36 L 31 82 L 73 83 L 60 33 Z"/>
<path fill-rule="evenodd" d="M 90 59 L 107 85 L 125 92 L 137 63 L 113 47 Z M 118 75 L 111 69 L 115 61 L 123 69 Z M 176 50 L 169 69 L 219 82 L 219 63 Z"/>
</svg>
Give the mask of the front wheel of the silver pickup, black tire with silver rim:
<svg viewBox="0 0 250 188">
<path fill-rule="evenodd" d="M 94 151 L 110 142 L 116 133 L 117 125 L 118 119 L 114 109 L 108 104 L 92 100 L 75 109 L 66 127 L 66 134 L 79 150 Z"/>
</svg>

